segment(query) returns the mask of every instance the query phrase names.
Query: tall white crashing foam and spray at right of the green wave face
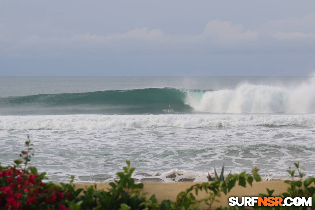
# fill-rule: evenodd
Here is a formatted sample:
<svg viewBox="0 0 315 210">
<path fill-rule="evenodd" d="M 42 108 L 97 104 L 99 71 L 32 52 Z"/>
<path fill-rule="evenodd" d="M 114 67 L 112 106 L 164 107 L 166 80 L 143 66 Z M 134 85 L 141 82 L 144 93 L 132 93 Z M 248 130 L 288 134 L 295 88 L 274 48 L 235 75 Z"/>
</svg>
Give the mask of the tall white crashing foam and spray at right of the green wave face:
<svg viewBox="0 0 315 210">
<path fill-rule="evenodd" d="M 290 88 L 243 83 L 232 90 L 188 91 L 185 103 L 210 113 L 315 113 L 314 81 Z"/>
</svg>

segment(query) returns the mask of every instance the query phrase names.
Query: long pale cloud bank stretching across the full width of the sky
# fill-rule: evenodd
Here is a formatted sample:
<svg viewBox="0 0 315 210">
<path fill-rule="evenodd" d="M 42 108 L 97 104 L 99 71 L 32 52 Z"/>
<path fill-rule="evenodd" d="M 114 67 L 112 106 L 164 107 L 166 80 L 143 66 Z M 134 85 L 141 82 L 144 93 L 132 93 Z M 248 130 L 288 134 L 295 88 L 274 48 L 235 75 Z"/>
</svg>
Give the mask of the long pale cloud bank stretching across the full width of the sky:
<svg viewBox="0 0 315 210">
<path fill-rule="evenodd" d="M 2 39 L 5 40 L 5 39 Z M 313 43 L 313 44 L 312 44 Z M 195 35 L 166 35 L 161 29 L 143 27 L 125 33 L 96 35 L 73 34 L 70 37 L 33 35 L 16 40 L 0 49 L 6 56 L 27 54 L 59 55 L 69 52 L 261 52 L 262 50 L 310 49 L 315 43 L 315 14 L 301 18 L 270 20 L 257 30 L 245 29 L 232 21 L 211 20 Z M 0 46 L 4 46 L 1 44 Z"/>
</svg>

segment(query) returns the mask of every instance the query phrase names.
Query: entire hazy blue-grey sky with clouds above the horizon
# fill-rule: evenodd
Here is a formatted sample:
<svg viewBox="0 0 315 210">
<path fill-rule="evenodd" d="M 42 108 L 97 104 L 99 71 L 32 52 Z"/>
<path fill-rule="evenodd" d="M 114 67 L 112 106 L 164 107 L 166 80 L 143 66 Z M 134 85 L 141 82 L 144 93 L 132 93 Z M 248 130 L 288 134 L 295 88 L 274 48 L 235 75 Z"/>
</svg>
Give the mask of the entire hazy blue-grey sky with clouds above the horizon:
<svg viewBox="0 0 315 210">
<path fill-rule="evenodd" d="M 0 3 L 0 76 L 308 76 L 315 1 Z"/>
</svg>

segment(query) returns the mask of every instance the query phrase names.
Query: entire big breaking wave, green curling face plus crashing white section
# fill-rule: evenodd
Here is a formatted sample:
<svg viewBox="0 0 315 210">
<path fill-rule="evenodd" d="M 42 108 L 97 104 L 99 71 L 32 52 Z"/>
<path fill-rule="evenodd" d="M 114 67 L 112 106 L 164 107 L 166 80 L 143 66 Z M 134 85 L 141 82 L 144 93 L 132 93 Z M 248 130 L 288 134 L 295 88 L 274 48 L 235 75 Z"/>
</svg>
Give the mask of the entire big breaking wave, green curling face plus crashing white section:
<svg viewBox="0 0 315 210">
<path fill-rule="evenodd" d="M 173 111 L 166 112 L 169 105 Z M 226 90 L 146 88 L 0 98 L 4 115 L 193 112 L 315 114 L 315 82 L 294 88 L 243 83 Z"/>
</svg>

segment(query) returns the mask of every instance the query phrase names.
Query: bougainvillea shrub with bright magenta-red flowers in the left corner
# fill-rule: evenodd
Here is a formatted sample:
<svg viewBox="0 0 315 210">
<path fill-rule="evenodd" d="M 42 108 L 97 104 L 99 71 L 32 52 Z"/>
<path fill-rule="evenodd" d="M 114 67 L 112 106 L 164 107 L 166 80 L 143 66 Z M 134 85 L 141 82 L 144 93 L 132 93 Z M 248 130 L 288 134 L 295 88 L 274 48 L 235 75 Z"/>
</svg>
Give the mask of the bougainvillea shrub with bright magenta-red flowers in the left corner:
<svg viewBox="0 0 315 210">
<path fill-rule="evenodd" d="M 69 193 L 56 190 L 52 183 L 42 180 L 46 173 L 37 173 L 35 167 L 28 167 L 31 154 L 31 140 L 25 142 L 27 151 L 22 151 L 21 159 L 15 160 L 13 166 L 0 165 L 0 207 L 7 209 L 66 209 L 60 202 Z M 24 169 L 21 164 L 24 163 Z"/>
</svg>

